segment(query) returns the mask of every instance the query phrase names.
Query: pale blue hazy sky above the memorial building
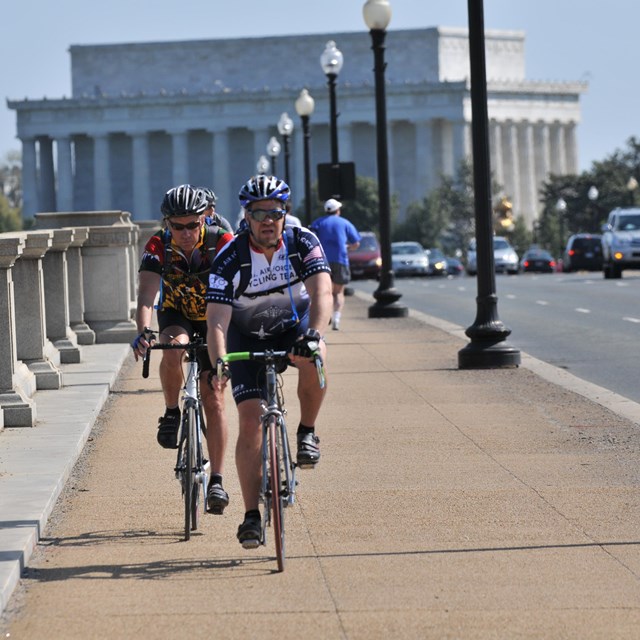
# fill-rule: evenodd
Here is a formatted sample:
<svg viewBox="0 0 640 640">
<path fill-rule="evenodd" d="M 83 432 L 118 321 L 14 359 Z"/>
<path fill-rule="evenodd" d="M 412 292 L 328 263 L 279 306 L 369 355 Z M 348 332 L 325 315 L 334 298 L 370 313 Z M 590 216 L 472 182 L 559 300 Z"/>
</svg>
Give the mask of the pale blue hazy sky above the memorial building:
<svg viewBox="0 0 640 640">
<path fill-rule="evenodd" d="M 363 4 L 364 0 L 10 0 L 3 5 L 0 24 L 0 158 L 10 149 L 20 149 L 15 112 L 7 108 L 7 98 L 70 96 L 70 45 L 366 31 Z M 468 26 L 466 0 L 391 0 L 391 5 L 389 29 Z M 640 2 L 484 0 L 484 16 L 485 29 L 526 32 L 527 79 L 588 81 L 577 130 L 581 170 L 624 148 L 630 136 L 640 137 L 634 53 Z M 321 53 L 309 55 L 319 59 Z M 265 73 L 272 71 L 260 61 L 259 52 L 256 61 L 264 64 Z"/>
</svg>

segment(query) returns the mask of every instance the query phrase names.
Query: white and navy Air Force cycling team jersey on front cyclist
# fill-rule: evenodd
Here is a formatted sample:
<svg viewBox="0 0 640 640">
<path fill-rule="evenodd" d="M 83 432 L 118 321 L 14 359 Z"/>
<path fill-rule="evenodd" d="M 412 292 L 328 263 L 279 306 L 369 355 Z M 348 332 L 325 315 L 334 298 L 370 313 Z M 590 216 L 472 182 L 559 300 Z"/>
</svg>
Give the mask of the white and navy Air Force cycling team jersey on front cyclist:
<svg viewBox="0 0 640 640">
<path fill-rule="evenodd" d="M 309 293 L 304 281 L 317 273 L 331 273 L 318 238 L 300 228 L 296 244 L 299 260 L 294 268 L 287 242 L 282 238 L 268 262 L 265 254 L 251 245 L 247 233 L 236 236 L 216 256 L 207 289 L 207 302 L 233 306 L 231 324 L 240 333 L 261 340 L 279 336 L 295 327 L 309 313 Z M 248 243 L 251 277 L 236 298 L 244 251 Z"/>
</svg>

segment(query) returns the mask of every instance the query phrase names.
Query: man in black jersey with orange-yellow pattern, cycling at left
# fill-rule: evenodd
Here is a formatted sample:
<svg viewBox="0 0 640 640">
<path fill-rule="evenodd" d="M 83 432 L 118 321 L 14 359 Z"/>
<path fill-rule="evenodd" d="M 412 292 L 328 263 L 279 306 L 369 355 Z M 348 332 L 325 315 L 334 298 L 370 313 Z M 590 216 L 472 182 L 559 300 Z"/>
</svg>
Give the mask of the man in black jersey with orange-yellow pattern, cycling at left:
<svg viewBox="0 0 640 640">
<path fill-rule="evenodd" d="M 186 343 L 198 332 L 206 335 L 205 293 L 209 270 L 217 251 L 233 235 L 220 226 L 205 223 L 209 202 L 202 189 L 180 185 L 164 196 L 161 211 L 164 225 L 147 242 L 139 269 L 136 322 L 140 335 L 132 347 L 136 359 L 149 346 L 146 329 L 151 326 L 154 302 L 158 302 L 158 328 L 161 343 Z M 166 403 L 158 420 L 157 439 L 167 449 L 177 447 L 180 426 L 180 389 L 183 385 L 182 351 L 163 351 L 160 382 Z M 199 357 L 201 396 L 207 423 L 207 448 L 211 478 L 207 509 L 222 513 L 229 496 L 222 487 L 227 420 L 222 397 L 206 383 L 211 371 L 206 350 Z"/>
</svg>

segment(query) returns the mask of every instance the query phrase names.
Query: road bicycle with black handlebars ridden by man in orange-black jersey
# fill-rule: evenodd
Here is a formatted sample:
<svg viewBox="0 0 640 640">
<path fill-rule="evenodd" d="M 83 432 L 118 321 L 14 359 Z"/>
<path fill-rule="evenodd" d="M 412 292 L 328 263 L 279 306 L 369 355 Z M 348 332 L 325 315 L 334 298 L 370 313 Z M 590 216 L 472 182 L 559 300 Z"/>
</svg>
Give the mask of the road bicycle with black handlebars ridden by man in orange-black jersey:
<svg viewBox="0 0 640 640">
<path fill-rule="evenodd" d="M 152 344 L 145 354 L 142 364 L 142 377 L 149 376 L 151 351 L 154 349 L 182 349 L 185 352 L 187 375 L 182 388 L 182 418 L 178 455 L 174 468 L 176 478 L 180 481 L 184 499 L 184 539 L 189 540 L 191 532 L 198 529 L 200 517 L 200 497 L 203 507 L 207 499 L 207 474 L 209 462 L 203 454 L 202 441 L 206 437 L 207 428 L 200 399 L 200 367 L 197 354 L 206 349 L 202 337 L 195 335 L 187 344 Z M 201 491 L 202 490 L 202 491 Z"/>
</svg>

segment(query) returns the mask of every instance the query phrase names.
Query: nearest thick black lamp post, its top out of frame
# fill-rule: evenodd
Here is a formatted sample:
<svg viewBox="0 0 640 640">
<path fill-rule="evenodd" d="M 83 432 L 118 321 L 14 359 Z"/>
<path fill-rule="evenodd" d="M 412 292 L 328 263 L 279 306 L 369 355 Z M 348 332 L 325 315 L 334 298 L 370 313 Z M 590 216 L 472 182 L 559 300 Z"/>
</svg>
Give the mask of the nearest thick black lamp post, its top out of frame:
<svg viewBox="0 0 640 640">
<path fill-rule="evenodd" d="M 466 331 L 471 342 L 458 352 L 460 369 L 517 367 L 520 351 L 507 343 L 511 329 L 498 317 L 493 216 L 491 212 L 491 164 L 482 0 L 468 0 L 469 58 L 471 63 L 471 125 L 473 187 L 475 195 L 478 296 L 476 319 Z"/>
</svg>

